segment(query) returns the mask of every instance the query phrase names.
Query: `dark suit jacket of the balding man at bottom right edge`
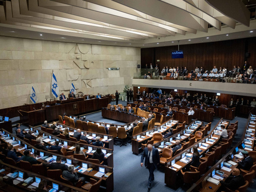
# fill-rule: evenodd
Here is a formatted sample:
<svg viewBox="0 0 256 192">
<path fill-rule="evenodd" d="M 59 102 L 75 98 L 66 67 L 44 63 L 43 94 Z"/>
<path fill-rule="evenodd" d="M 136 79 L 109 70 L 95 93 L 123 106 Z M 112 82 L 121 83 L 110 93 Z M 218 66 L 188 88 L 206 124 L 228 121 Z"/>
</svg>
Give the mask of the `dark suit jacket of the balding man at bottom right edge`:
<svg viewBox="0 0 256 192">
<path fill-rule="evenodd" d="M 225 182 L 220 181 L 220 183 L 222 184 L 222 186 L 235 191 L 240 186 L 244 185 L 244 176 L 242 174 L 240 174 L 238 176 L 230 175 L 228 178 L 226 178 Z"/>
</svg>

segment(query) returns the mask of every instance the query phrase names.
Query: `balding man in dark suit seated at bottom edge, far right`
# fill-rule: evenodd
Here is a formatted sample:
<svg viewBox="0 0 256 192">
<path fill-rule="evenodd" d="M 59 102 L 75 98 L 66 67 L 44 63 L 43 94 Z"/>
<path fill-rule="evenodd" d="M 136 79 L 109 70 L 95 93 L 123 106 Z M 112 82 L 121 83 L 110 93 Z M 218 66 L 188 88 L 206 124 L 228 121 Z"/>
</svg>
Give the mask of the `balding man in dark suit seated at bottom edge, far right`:
<svg viewBox="0 0 256 192">
<path fill-rule="evenodd" d="M 221 183 L 221 191 L 226 191 L 226 188 L 229 188 L 232 191 L 237 190 L 240 186 L 244 185 L 244 176 L 240 174 L 240 170 L 238 168 L 234 168 L 232 170 L 232 175 L 228 176 L 226 174 L 223 175 L 226 178 L 225 181 L 219 179 Z"/>
</svg>

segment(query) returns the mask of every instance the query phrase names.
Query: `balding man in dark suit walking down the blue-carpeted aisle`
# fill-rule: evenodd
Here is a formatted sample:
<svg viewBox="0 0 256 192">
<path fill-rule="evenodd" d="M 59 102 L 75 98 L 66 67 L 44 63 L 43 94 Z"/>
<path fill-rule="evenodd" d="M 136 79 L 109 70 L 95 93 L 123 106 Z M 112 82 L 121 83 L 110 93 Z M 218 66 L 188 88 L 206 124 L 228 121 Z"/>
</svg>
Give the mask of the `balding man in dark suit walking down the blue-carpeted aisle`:
<svg viewBox="0 0 256 192">
<path fill-rule="evenodd" d="M 141 155 L 140 166 L 143 167 L 143 161 L 145 158 L 145 167 L 149 170 L 148 178 L 148 189 L 151 188 L 151 183 L 154 181 L 154 170 L 157 168 L 157 165 L 160 163 L 159 152 L 156 148 L 153 148 L 151 144 L 148 144 Z"/>
</svg>

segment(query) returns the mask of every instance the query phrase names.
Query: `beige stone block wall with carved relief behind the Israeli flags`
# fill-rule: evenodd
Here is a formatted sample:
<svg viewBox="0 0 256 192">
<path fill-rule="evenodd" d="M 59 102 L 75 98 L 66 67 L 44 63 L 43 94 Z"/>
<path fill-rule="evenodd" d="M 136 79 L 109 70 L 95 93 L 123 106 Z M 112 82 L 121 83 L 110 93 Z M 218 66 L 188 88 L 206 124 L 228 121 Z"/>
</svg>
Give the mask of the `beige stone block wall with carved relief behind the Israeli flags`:
<svg viewBox="0 0 256 192">
<path fill-rule="evenodd" d="M 59 95 L 67 96 L 73 81 L 76 93 L 122 93 L 131 85 L 140 64 L 140 48 L 77 44 L 0 36 L 0 108 L 31 103 L 34 87 L 38 102 L 50 95 L 52 70 Z M 108 70 L 120 68 L 120 70 Z"/>
</svg>

